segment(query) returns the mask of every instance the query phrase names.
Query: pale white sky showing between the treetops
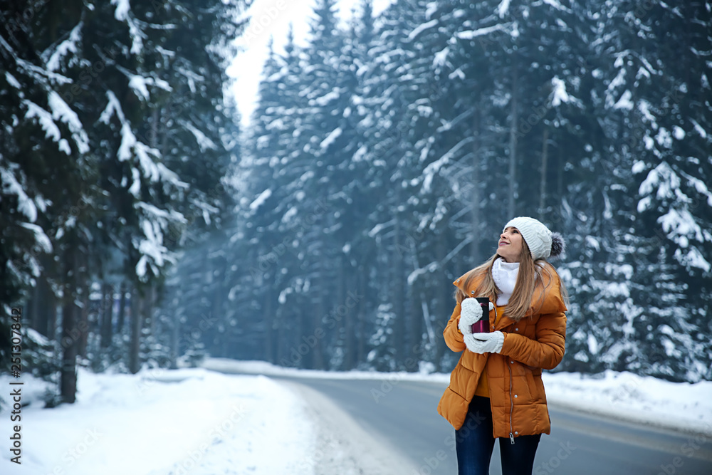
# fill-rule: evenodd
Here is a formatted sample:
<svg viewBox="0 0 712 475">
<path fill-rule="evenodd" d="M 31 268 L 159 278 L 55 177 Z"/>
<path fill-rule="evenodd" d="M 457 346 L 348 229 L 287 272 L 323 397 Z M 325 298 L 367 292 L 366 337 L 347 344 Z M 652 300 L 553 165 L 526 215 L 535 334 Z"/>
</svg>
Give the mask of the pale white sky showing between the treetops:
<svg viewBox="0 0 712 475">
<path fill-rule="evenodd" d="M 374 14 L 380 14 L 391 0 L 374 0 Z M 238 44 L 243 51 L 233 61 L 227 73 L 235 78 L 233 92 L 246 126 L 255 108 L 257 88 L 262 66 L 267 55 L 269 38 L 274 38 L 275 49 L 284 51 L 289 24 L 293 24 L 295 41 L 305 44 L 309 31 L 308 18 L 315 0 L 255 0 L 248 11 L 251 17 Z M 361 0 L 338 0 L 338 16 L 347 19 L 352 10 L 358 9 Z"/>
</svg>

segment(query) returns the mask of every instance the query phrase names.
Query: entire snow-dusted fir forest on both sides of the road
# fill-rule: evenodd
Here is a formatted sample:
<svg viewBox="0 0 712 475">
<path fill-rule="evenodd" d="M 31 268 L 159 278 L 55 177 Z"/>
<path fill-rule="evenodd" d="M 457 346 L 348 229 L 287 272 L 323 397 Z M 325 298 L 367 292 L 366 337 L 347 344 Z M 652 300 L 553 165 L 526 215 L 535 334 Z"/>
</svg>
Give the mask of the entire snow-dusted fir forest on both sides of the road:
<svg viewBox="0 0 712 475">
<path fill-rule="evenodd" d="M 0 2 L 3 370 L 21 308 L 48 404 L 206 355 L 449 372 L 451 282 L 533 216 L 557 370 L 712 380 L 712 1 L 316 0 L 241 127 L 249 3 Z"/>
</svg>

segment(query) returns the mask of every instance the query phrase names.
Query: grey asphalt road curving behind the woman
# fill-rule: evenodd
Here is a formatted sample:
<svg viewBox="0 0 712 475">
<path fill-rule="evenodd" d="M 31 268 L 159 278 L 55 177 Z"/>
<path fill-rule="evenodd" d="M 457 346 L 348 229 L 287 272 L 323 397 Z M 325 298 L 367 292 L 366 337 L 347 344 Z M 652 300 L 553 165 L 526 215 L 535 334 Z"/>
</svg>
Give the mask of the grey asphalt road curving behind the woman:
<svg viewBox="0 0 712 475">
<path fill-rule="evenodd" d="M 367 433 L 389 440 L 418 467 L 397 475 L 457 473 L 454 430 L 436 412 L 444 385 L 284 379 L 330 398 Z M 712 475 L 711 437 L 570 412 L 551 404 L 549 411 L 551 434 L 541 438 L 534 475 Z M 500 467 L 495 444 L 490 474 L 501 475 Z"/>
</svg>

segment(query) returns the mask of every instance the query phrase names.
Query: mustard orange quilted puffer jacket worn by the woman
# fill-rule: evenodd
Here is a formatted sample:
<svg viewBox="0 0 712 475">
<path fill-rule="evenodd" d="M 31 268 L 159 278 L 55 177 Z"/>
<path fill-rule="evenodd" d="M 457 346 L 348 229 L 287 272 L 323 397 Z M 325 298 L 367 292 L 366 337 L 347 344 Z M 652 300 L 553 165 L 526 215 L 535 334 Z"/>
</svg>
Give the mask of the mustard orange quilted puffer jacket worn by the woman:
<svg viewBox="0 0 712 475">
<path fill-rule="evenodd" d="M 543 305 L 536 313 L 519 321 L 490 311 L 490 331 L 504 333 L 501 353 L 472 353 L 466 349 L 457 324 L 460 304 L 455 306 L 443 332 L 445 343 L 462 355 L 450 375 L 450 385 L 438 404 L 438 412 L 455 429 L 464 424 L 480 375 L 486 370 L 492 407 L 493 437 L 549 434 L 550 420 L 541 370 L 550 370 L 561 362 L 566 340 L 566 306 L 560 293 L 560 279 L 549 264 L 550 278 L 543 273 Z M 471 272 L 471 271 L 470 271 Z M 464 288 L 465 273 L 454 281 L 467 296 L 477 288 L 480 279 Z M 541 292 L 541 291 L 540 291 Z M 540 302 L 541 295 L 535 295 Z"/>
</svg>

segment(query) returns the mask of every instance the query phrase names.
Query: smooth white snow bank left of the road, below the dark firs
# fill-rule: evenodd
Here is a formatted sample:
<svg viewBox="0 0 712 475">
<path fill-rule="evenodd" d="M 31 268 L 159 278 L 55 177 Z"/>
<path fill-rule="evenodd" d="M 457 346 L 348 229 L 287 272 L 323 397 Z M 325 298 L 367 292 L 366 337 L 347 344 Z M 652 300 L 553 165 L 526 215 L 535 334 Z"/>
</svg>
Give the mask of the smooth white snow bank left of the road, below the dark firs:
<svg viewBox="0 0 712 475">
<path fill-rule="evenodd" d="M 22 464 L 4 475 L 313 474 L 305 403 L 263 376 L 203 369 L 95 375 L 80 370 L 78 400 L 43 409 L 43 382 L 23 378 Z M 9 377 L 0 377 L 9 387 Z M 8 411 L 0 437 L 11 432 Z M 278 455 L 278 456 L 276 456 Z"/>
</svg>

